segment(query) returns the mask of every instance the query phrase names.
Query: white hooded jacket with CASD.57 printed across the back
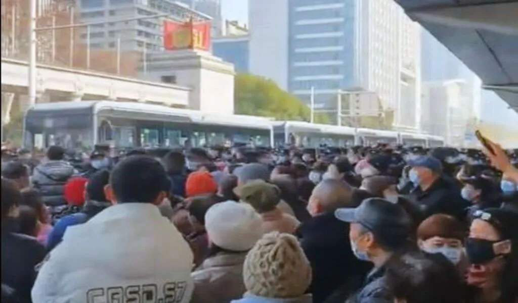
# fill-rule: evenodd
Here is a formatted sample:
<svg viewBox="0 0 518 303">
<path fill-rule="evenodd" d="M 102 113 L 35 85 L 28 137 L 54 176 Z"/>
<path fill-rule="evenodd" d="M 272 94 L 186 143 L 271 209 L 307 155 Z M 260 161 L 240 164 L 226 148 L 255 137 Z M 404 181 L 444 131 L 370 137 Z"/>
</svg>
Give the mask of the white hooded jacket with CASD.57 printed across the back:
<svg viewBox="0 0 518 303">
<path fill-rule="evenodd" d="M 66 230 L 39 271 L 32 299 L 188 303 L 192 262 L 189 245 L 155 205 L 117 204 Z"/>
</svg>

